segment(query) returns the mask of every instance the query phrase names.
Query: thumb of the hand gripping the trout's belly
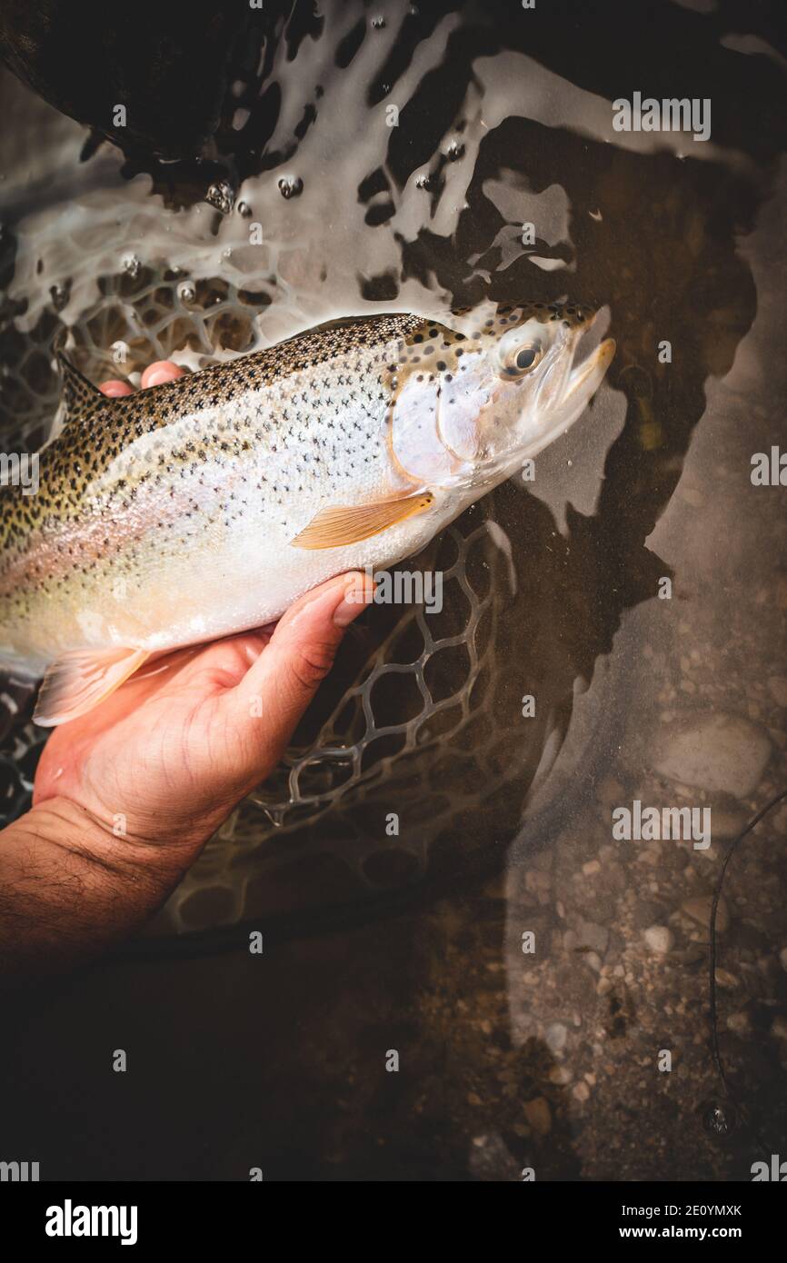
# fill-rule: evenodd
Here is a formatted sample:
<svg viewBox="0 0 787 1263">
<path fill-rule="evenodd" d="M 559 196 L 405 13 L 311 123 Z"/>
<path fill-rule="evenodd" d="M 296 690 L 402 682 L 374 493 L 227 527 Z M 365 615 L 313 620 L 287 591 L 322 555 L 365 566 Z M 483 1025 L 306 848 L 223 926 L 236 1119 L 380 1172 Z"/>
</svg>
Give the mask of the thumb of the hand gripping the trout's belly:
<svg viewBox="0 0 787 1263">
<path fill-rule="evenodd" d="M 229 695 L 239 721 L 255 731 L 260 720 L 264 724 L 261 757 L 278 758 L 285 748 L 333 666 L 347 626 L 373 596 L 374 584 L 365 575 L 340 575 L 296 601 L 277 624 L 270 644 Z"/>
</svg>

